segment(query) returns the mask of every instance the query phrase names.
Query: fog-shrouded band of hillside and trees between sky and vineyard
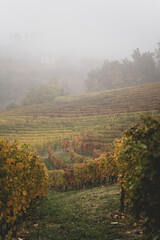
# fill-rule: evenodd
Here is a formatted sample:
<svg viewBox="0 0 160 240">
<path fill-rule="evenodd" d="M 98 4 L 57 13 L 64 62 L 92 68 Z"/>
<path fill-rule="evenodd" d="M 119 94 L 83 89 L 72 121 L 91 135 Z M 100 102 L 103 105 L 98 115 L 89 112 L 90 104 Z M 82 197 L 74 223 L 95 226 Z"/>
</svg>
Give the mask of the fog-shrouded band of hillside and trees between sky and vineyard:
<svg viewBox="0 0 160 240">
<path fill-rule="evenodd" d="M 96 59 L 79 59 L 73 56 L 1 58 L 0 108 L 4 109 L 7 105 L 7 108 L 14 108 L 20 105 L 49 102 L 59 95 L 84 94 L 87 91 L 116 89 L 160 81 L 159 44 L 154 53 L 141 53 L 137 48 L 131 57 L 132 60 L 125 58 L 121 61 L 106 60 L 103 63 Z M 50 83 L 53 91 L 50 89 Z M 55 95 L 57 84 L 61 93 Z"/>
</svg>

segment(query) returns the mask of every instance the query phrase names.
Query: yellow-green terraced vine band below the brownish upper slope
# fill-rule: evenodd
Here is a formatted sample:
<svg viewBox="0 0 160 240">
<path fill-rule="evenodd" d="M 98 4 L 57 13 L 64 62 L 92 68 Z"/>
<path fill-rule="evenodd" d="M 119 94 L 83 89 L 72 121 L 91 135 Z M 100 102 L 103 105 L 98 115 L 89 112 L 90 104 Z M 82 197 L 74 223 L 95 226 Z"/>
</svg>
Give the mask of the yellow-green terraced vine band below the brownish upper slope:
<svg viewBox="0 0 160 240">
<path fill-rule="evenodd" d="M 20 143 L 28 143 L 39 151 L 45 151 L 48 146 L 58 147 L 64 139 L 85 132 L 99 131 L 110 143 L 115 137 L 121 137 L 122 132 L 139 116 L 140 113 L 132 113 L 80 118 L 38 117 L 37 120 L 28 116 L 3 116 L 0 118 L 0 136 L 9 140 L 18 139 Z"/>
</svg>

